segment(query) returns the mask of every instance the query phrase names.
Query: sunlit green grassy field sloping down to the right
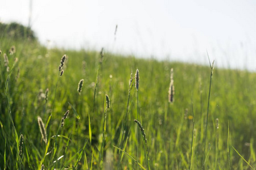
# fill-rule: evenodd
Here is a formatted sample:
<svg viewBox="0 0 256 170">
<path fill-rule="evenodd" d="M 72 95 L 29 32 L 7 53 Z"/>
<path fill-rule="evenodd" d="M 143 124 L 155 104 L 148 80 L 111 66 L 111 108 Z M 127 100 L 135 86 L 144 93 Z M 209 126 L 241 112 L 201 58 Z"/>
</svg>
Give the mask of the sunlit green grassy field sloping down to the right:
<svg viewBox="0 0 256 170">
<path fill-rule="evenodd" d="M 48 49 L 36 39 L 5 33 L 0 35 L 0 169 L 256 167 L 255 73 L 215 66 L 210 83 L 210 66 L 101 55 L 100 49 Z M 141 122 L 147 141 L 134 120 Z"/>
</svg>

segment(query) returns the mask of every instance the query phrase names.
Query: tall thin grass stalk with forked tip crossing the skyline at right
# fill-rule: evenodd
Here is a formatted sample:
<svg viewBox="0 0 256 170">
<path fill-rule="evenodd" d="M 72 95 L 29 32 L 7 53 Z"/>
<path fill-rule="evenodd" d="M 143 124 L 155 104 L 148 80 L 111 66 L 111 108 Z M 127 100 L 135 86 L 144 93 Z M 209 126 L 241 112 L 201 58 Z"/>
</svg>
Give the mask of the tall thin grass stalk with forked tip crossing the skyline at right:
<svg viewBox="0 0 256 170">
<path fill-rule="evenodd" d="M 208 55 L 208 53 L 207 53 Z M 210 58 L 208 55 L 208 59 L 209 59 L 209 63 L 210 63 Z M 203 168 L 205 168 L 205 146 L 206 146 L 206 141 L 207 141 L 207 127 L 208 127 L 208 114 L 209 114 L 209 105 L 210 105 L 210 88 L 212 87 L 212 75 L 213 75 L 213 67 L 214 66 L 214 60 L 212 62 L 212 64 L 210 63 L 210 84 L 209 84 L 209 94 L 208 94 L 208 104 L 207 104 L 207 121 L 206 121 L 206 125 L 205 125 L 205 135 L 204 135 L 204 154 L 203 154 Z"/>
</svg>

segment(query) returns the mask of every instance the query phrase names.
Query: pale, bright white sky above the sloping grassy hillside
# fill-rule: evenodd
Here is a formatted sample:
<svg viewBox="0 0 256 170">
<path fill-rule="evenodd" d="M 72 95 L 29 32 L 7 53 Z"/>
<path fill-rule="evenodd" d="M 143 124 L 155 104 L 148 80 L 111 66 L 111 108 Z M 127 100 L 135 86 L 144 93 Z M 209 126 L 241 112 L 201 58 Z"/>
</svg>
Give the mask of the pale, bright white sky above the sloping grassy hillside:
<svg viewBox="0 0 256 170">
<path fill-rule="evenodd" d="M 18 22 L 42 44 L 256 71 L 253 0 L 0 0 L 0 22 Z M 31 12 L 30 12 L 31 11 Z M 115 27 L 116 35 L 114 35 Z"/>
</svg>

